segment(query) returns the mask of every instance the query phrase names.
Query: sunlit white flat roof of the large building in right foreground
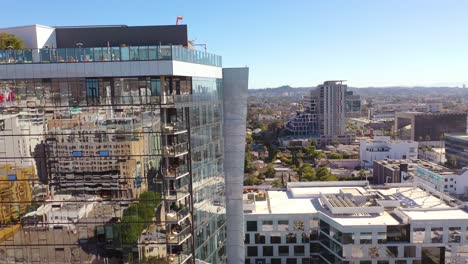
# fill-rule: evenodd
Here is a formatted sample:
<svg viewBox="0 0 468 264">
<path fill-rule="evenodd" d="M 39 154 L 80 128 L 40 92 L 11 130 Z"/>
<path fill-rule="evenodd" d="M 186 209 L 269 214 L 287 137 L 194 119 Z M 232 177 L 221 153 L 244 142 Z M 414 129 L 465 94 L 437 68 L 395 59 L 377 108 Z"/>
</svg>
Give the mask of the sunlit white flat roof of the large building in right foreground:
<svg viewBox="0 0 468 264">
<path fill-rule="evenodd" d="M 424 185 L 367 186 L 365 181 L 295 183 L 288 190 L 244 194 L 246 214 L 322 213 L 340 225 L 396 225 L 416 220 L 468 220 L 463 203 Z M 327 186 L 328 185 L 328 186 Z M 250 190 L 252 192 L 252 190 Z M 262 193 L 261 201 L 258 197 Z"/>
</svg>

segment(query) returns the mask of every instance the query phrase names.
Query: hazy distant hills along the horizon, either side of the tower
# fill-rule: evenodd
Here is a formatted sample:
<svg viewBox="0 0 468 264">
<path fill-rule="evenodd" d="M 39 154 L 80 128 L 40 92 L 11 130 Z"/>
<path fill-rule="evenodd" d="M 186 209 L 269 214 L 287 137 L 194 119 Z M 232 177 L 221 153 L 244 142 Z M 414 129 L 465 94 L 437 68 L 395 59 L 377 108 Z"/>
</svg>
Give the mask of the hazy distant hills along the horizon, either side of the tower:
<svg viewBox="0 0 468 264">
<path fill-rule="evenodd" d="M 278 96 L 302 97 L 314 87 L 291 87 L 288 85 L 277 88 L 249 89 L 249 96 L 268 98 Z M 349 87 L 356 94 L 370 97 L 418 97 L 418 96 L 468 96 L 468 88 L 457 87 Z"/>
</svg>

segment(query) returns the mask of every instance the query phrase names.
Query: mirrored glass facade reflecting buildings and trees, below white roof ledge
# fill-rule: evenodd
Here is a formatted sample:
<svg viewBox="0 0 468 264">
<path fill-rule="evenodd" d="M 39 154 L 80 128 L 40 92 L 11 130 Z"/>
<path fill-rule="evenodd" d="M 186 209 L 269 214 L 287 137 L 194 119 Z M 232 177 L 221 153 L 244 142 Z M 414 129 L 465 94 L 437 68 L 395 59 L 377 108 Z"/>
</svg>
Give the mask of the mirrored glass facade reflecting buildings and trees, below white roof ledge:
<svg viewBox="0 0 468 264">
<path fill-rule="evenodd" d="M 224 263 L 221 83 L 0 80 L 0 263 Z"/>
</svg>

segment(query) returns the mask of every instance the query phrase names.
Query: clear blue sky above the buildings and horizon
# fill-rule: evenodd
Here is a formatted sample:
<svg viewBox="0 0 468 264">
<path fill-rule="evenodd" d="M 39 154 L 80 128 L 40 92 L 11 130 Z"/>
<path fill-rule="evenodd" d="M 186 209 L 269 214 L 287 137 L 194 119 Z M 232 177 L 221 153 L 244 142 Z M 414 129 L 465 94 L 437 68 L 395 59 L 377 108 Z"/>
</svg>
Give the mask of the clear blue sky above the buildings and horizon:
<svg viewBox="0 0 468 264">
<path fill-rule="evenodd" d="M 468 85 L 464 0 L 22 0 L 2 2 L 0 27 L 165 25 L 250 67 L 250 87 Z"/>
</svg>

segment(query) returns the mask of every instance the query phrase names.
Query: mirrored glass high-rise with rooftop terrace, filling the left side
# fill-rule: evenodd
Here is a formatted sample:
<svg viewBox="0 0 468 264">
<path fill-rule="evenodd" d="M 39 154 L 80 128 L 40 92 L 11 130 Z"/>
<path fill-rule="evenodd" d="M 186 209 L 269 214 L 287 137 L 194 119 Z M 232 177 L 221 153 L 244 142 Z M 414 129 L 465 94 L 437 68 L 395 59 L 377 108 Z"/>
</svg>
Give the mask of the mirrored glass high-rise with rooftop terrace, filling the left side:
<svg viewBox="0 0 468 264">
<path fill-rule="evenodd" d="M 27 47 L 0 50 L 0 263 L 225 263 L 223 89 L 248 69 L 186 25 L 0 32 Z"/>
</svg>

